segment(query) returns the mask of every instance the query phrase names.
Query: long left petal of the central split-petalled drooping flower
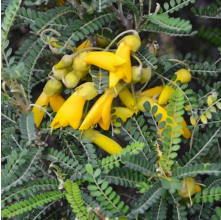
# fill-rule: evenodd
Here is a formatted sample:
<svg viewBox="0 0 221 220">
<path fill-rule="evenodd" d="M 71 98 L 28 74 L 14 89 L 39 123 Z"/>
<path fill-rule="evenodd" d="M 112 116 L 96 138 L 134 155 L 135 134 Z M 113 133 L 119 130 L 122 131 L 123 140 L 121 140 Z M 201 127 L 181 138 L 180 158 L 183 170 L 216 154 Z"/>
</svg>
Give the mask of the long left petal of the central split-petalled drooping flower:
<svg viewBox="0 0 221 220">
<path fill-rule="evenodd" d="M 97 124 L 102 117 L 103 105 L 106 101 L 108 94 L 103 94 L 92 106 L 84 121 L 82 122 L 79 130 L 87 130 L 92 125 Z"/>
</svg>

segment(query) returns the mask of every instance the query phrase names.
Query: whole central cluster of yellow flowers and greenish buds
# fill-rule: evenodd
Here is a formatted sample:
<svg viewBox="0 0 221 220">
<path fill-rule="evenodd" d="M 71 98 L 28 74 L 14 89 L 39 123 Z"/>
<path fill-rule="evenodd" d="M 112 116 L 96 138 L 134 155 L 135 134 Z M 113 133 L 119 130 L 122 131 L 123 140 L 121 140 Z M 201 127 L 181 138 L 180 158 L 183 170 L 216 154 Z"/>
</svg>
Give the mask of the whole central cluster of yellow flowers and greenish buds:
<svg viewBox="0 0 221 220">
<path fill-rule="evenodd" d="M 59 48 L 60 46 L 56 42 L 55 38 L 50 39 L 50 45 Z M 114 52 L 107 51 L 108 47 L 106 50 L 100 51 L 98 48 L 90 47 L 90 41 L 86 40 L 73 54 L 64 55 L 52 67 L 53 75 L 50 76 L 51 79 L 45 85 L 44 91 L 33 108 L 37 127 L 43 119 L 45 111 L 43 109 L 46 109 L 50 102 L 53 111 L 57 112 L 50 125 L 52 129 L 71 126 L 74 129 L 82 130 L 84 136 L 91 142 L 96 143 L 108 153 L 114 154 L 119 153 L 121 147 L 110 138 L 104 138 L 102 134 L 95 131 L 97 125 L 103 130 L 109 130 L 111 123 L 113 125 L 117 123 L 117 117 L 126 122 L 134 114 L 146 111 L 143 106 L 146 101 L 151 104 L 151 107 L 155 105 L 158 107 L 154 116 L 162 114 L 159 123 L 170 118 L 166 105 L 173 87 L 159 85 L 145 91 L 142 89 L 138 92 L 134 91 L 134 83 L 145 83 L 146 86 L 152 75 L 151 67 L 144 67 L 135 55 L 141 45 L 139 35 L 137 33 L 128 35 L 122 38 L 117 45 Z M 138 61 L 139 66 L 132 66 L 132 59 Z M 97 97 L 98 91 L 93 82 L 86 82 L 78 86 L 93 68 L 109 71 L 109 86 L 99 97 Z M 176 79 L 171 81 L 173 84 L 178 81 L 187 83 L 191 80 L 191 74 L 186 69 L 178 70 L 175 75 Z M 63 86 L 75 89 L 66 101 L 60 96 Z M 120 103 L 118 106 L 113 104 L 116 98 L 118 100 L 116 103 Z M 85 105 L 87 102 L 92 105 Z M 89 106 L 92 107 L 88 109 Z M 183 119 L 178 124 L 182 125 L 180 132 L 183 137 L 190 138 L 191 132 L 187 128 L 185 120 Z M 159 131 L 161 133 L 163 129 Z M 103 146 L 102 141 L 109 143 L 109 146 Z"/>
</svg>

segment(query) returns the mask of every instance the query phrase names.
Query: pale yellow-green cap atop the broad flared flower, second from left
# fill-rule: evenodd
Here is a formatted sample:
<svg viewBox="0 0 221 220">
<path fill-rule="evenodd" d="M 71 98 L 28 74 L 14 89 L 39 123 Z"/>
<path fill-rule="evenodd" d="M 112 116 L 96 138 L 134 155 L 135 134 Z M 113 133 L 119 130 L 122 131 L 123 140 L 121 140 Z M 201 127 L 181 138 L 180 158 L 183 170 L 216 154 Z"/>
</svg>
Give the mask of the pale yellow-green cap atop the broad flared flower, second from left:
<svg viewBox="0 0 221 220">
<path fill-rule="evenodd" d="M 76 88 L 76 94 L 86 100 L 91 100 L 98 95 L 97 89 L 94 86 L 94 83 L 86 82 Z"/>
</svg>

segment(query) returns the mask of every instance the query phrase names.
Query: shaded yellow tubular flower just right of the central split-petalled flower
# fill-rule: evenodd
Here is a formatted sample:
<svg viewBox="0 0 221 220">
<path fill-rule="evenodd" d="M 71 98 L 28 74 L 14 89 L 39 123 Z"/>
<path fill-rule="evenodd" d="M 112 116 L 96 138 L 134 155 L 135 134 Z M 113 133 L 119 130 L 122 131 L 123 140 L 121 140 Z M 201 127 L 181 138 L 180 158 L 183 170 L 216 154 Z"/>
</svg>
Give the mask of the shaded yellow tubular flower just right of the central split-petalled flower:
<svg viewBox="0 0 221 220">
<path fill-rule="evenodd" d="M 124 87 L 121 90 L 121 92 L 119 93 L 119 98 L 127 108 L 137 114 L 138 108 L 136 100 L 127 87 Z"/>
</svg>

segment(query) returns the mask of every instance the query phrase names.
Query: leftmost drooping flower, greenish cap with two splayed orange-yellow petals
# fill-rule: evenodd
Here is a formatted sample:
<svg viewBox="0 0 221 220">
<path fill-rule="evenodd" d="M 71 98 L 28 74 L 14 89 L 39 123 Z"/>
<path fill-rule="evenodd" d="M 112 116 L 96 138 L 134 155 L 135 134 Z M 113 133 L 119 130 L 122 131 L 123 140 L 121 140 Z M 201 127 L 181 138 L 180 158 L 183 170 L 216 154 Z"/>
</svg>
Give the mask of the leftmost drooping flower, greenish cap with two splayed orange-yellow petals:
<svg viewBox="0 0 221 220">
<path fill-rule="evenodd" d="M 52 110 L 57 112 L 65 102 L 64 98 L 60 95 L 62 87 L 62 83 L 54 78 L 50 79 L 46 83 L 43 92 L 36 100 L 35 106 L 32 109 L 32 112 L 34 113 L 34 121 L 37 127 L 41 124 L 45 114 L 45 111 L 42 110 L 42 108 L 46 109 L 50 103 Z"/>
</svg>

